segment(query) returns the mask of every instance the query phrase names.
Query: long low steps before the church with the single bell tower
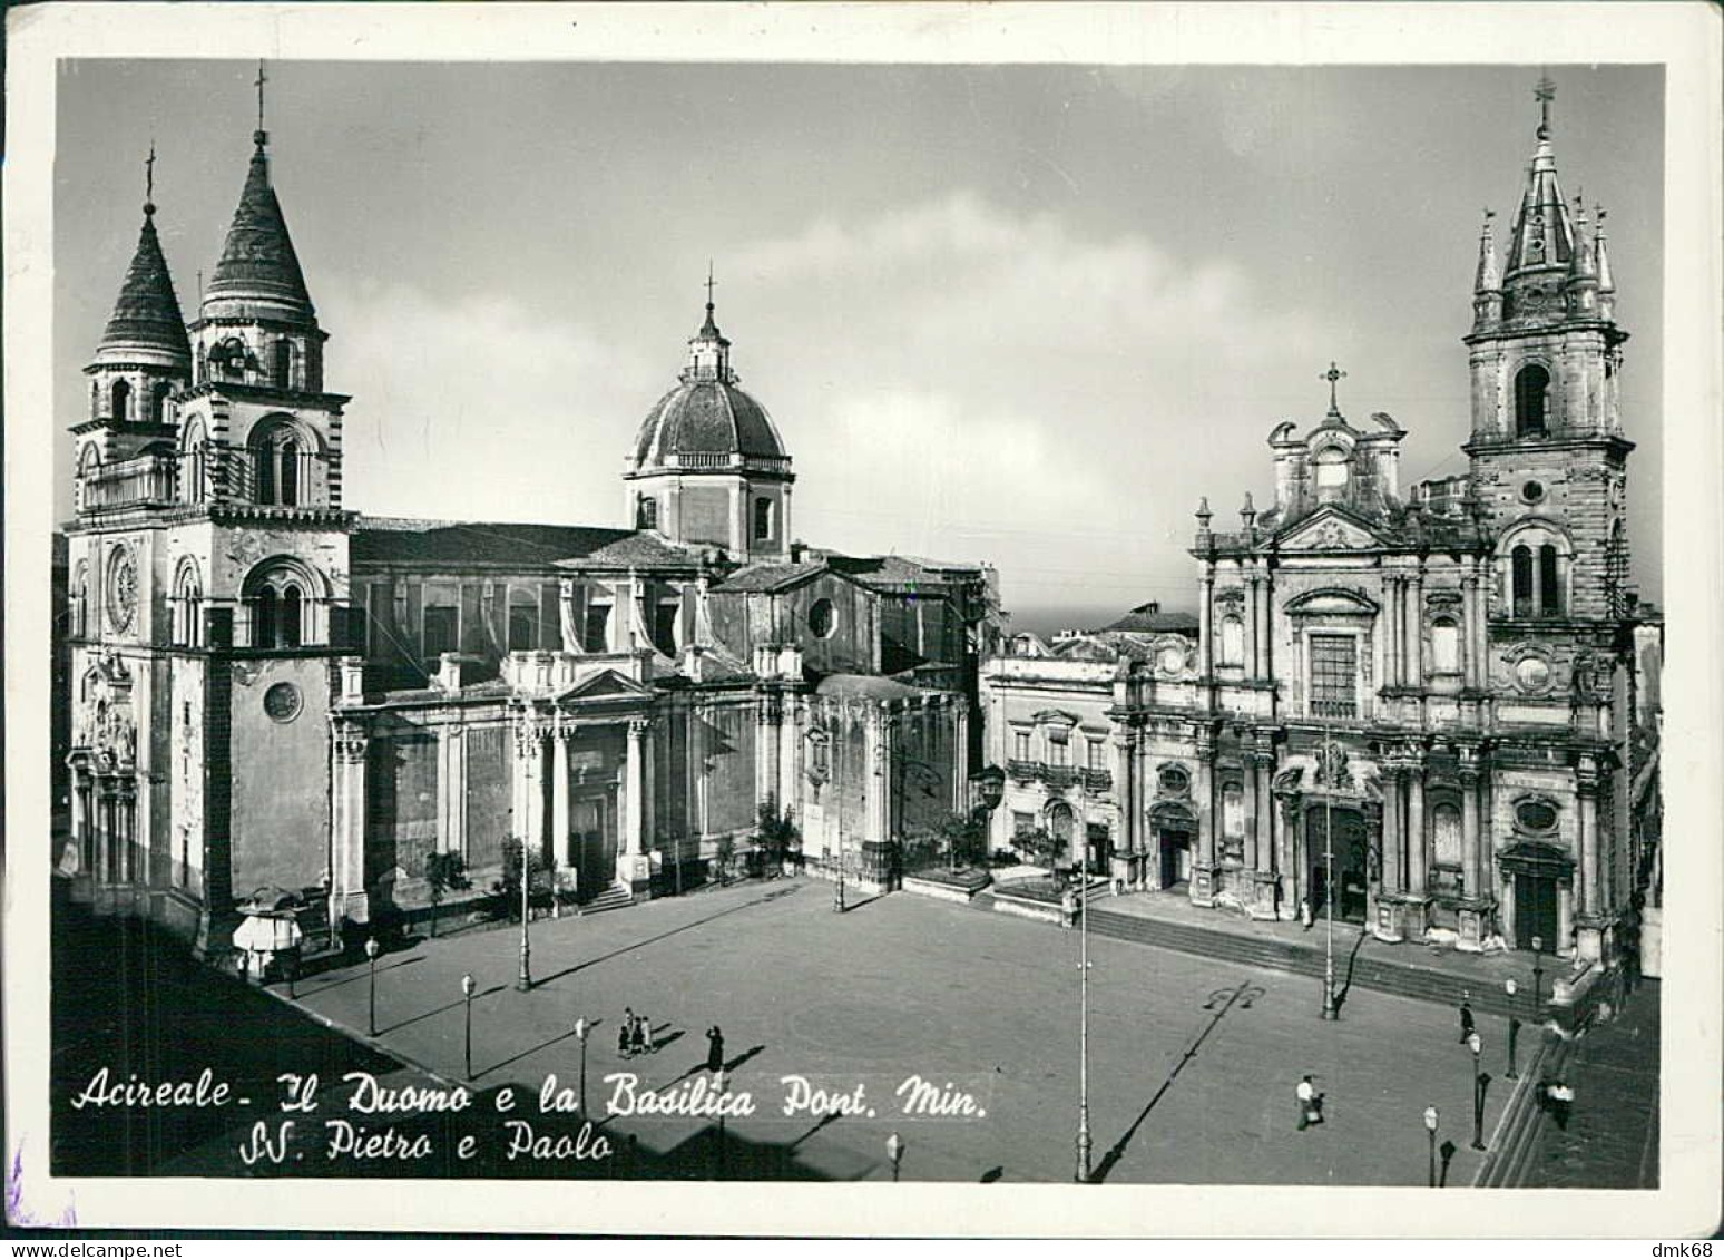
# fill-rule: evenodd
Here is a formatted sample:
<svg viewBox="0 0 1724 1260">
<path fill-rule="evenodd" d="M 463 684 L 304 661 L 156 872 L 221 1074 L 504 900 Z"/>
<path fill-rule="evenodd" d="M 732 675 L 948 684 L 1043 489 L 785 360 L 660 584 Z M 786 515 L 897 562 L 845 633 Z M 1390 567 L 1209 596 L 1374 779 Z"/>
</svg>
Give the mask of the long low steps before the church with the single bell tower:
<svg viewBox="0 0 1724 1260">
<path fill-rule="evenodd" d="M 1288 941 L 1267 936 L 1193 927 L 1165 919 L 1146 919 L 1110 910 L 1090 910 L 1090 929 L 1121 941 L 1136 941 L 1177 953 L 1195 953 L 1203 958 L 1219 958 L 1245 967 L 1267 967 L 1315 979 L 1322 979 L 1324 970 L 1321 945 L 1317 948 L 1290 945 Z M 1472 1010 L 1479 1015 L 1507 1017 L 1515 1014 L 1522 1019 L 1529 1015 L 1527 996 L 1522 995 L 1517 1003 L 1519 1010 L 1510 1012 L 1508 996 L 1498 991 L 1495 984 L 1483 986 L 1477 981 L 1467 981 L 1403 962 L 1386 962 L 1369 957 L 1357 957 L 1350 962 L 1355 945 L 1359 945 L 1357 927 L 1348 927 L 1345 936 L 1336 934 L 1334 982 L 1340 989 L 1355 984 L 1362 989 L 1393 993 L 1414 1001 L 1431 1001 L 1443 1007 L 1460 1007 L 1460 995 L 1467 991 Z M 1371 943 L 1367 941 L 1364 948 L 1369 950 Z"/>
</svg>

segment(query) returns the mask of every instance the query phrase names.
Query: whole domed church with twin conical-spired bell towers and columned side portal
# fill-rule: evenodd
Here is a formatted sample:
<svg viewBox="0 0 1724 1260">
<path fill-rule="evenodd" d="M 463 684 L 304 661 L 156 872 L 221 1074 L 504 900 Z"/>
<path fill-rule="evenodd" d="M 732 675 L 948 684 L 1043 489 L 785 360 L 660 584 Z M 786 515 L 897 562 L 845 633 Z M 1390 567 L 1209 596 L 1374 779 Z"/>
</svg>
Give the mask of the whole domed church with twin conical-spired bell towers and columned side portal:
<svg viewBox="0 0 1724 1260">
<path fill-rule="evenodd" d="M 422 905 L 431 853 L 478 889 L 519 838 L 614 903 L 771 807 L 815 872 L 879 883 L 967 808 L 993 571 L 793 541 L 791 457 L 710 300 L 622 527 L 365 517 L 267 133 L 190 324 L 155 212 L 72 427 L 76 898 L 221 957 L 260 893 L 333 929 Z"/>
</svg>

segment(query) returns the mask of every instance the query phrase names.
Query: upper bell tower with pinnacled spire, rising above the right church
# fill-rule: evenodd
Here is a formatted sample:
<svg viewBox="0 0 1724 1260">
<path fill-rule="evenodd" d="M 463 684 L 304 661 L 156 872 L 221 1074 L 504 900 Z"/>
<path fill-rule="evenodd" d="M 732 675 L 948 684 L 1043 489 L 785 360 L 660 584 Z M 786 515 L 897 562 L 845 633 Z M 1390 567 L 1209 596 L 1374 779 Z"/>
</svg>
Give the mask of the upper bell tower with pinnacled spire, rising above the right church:
<svg viewBox="0 0 1724 1260">
<path fill-rule="evenodd" d="M 1486 212 L 1474 276 L 1472 493 L 1496 540 L 1493 619 L 1602 621 L 1627 607 L 1626 464 L 1605 212 L 1557 183 L 1548 79 L 1505 255 Z"/>
</svg>

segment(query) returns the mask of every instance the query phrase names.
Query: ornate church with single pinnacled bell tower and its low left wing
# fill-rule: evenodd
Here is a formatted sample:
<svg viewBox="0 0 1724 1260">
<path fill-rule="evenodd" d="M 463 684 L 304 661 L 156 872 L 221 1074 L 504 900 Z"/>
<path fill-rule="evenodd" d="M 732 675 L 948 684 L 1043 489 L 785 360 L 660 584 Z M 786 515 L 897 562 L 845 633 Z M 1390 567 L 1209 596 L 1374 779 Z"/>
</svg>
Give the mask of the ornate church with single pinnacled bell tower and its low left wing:
<svg viewBox="0 0 1724 1260">
<path fill-rule="evenodd" d="M 1657 621 L 1603 212 L 1564 200 L 1541 98 L 1507 248 L 1490 217 L 1479 243 L 1467 472 L 1403 488 L 1405 431 L 1350 421 L 1331 365 L 1326 415 L 1269 434 L 1274 503 L 1238 529 L 1200 505 L 1195 624 L 1136 610 L 984 664 L 996 848 L 1046 829 L 1200 907 L 1612 962 L 1653 867 Z"/>
</svg>

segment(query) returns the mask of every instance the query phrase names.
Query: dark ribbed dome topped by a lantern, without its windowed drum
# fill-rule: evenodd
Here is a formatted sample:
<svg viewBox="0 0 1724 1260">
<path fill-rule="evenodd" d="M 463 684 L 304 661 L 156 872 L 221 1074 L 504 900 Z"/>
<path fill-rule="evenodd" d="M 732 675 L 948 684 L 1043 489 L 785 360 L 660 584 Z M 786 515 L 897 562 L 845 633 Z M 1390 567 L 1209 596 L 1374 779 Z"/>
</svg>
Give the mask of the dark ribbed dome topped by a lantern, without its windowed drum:
<svg viewBox="0 0 1724 1260">
<path fill-rule="evenodd" d="M 712 469 L 733 460 L 788 464 L 772 417 L 736 384 L 731 343 L 712 322 L 710 303 L 707 322 L 688 345 L 691 353 L 678 386 L 653 405 L 634 440 L 634 471 Z"/>
</svg>

